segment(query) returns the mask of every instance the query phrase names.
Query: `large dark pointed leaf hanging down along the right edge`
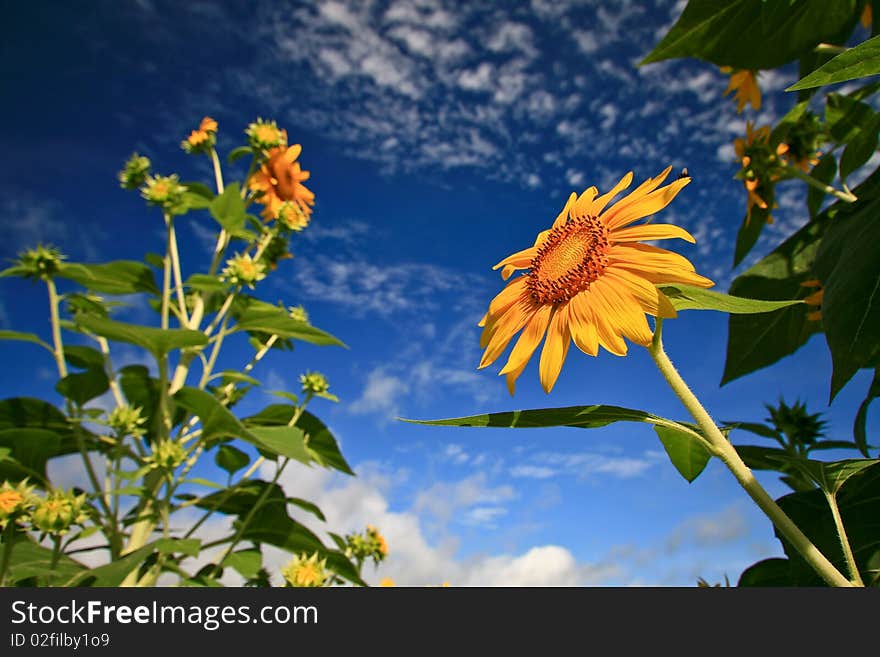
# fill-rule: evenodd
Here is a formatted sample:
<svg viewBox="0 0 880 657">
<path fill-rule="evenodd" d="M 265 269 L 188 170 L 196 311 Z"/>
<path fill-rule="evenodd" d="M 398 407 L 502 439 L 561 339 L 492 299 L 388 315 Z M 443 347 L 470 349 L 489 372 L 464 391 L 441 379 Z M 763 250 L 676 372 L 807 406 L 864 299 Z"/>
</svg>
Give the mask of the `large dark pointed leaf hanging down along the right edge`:
<svg viewBox="0 0 880 657">
<path fill-rule="evenodd" d="M 828 227 L 816 254 L 833 363 L 831 399 L 857 370 L 880 358 L 880 194 L 857 195 Z"/>
</svg>

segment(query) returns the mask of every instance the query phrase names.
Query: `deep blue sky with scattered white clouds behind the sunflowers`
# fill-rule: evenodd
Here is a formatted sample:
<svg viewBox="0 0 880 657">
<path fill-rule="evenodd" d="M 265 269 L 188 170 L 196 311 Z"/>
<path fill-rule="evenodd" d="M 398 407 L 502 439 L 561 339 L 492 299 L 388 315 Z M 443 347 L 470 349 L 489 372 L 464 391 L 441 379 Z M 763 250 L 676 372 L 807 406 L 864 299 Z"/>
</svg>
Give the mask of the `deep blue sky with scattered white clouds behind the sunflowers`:
<svg viewBox="0 0 880 657">
<path fill-rule="evenodd" d="M 401 584 L 735 581 L 781 553 L 769 523 L 717 463 L 688 485 L 647 426 L 476 430 L 394 419 L 591 403 L 685 419 L 638 347 L 624 359 L 573 350 L 550 396 L 536 363 L 513 399 L 500 366 L 476 370 L 476 323 L 501 286 L 491 266 L 531 244 L 572 191 L 604 191 L 629 170 L 640 182 L 687 167 L 694 180 L 662 218 L 697 244 L 672 248 L 717 289 L 741 271 L 730 268 L 745 210 L 731 142 L 754 114 L 736 114 L 722 98 L 726 77 L 708 64 L 636 66 L 683 6 L 19 3 L 0 58 L 0 257 L 40 240 L 75 261 L 159 251 L 160 217 L 119 189 L 122 162 L 137 150 L 159 172 L 208 182 L 207 159 L 179 148 L 203 116 L 220 124 L 221 155 L 243 143 L 250 121 L 274 118 L 303 145 L 317 203 L 295 257 L 258 291 L 302 303 L 350 349 L 298 346 L 256 373 L 267 389 L 295 390 L 299 373 L 324 372 L 341 403 L 318 400 L 313 410 L 359 474 L 299 468 L 289 493 L 317 502 L 334 531 L 377 525 L 391 548 L 378 575 Z M 782 90 L 795 74 L 762 73 L 761 124 L 793 102 Z M 803 221 L 803 187 L 783 183 L 778 197 L 776 222 L 747 264 Z M 191 272 L 208 259 L 212 220 L 181 223 Z M 42 289 L 0 285 L 0 327 L 45 335 L 46 319 Z M 714 417 L 759 421 L 763 404 L 784 394 L 826 412 L 832 437 L 849 435 L 864 372 L 826 408 L 830 357 L 814 336 L 777 366 L 719 388 L 726 326 L 726 316 L 689 312 L 665 331 Z M 6 343 L 0 354 L 4 396 L 55 394 L 52 363 L 36 348 Z M 117 360 L 137 357 L 122 349 Z M 240 367 L 250 352 L 234 345 L 224 357 Z M 255 393 L 245 410 L 271 399 Z"/>
</svg>

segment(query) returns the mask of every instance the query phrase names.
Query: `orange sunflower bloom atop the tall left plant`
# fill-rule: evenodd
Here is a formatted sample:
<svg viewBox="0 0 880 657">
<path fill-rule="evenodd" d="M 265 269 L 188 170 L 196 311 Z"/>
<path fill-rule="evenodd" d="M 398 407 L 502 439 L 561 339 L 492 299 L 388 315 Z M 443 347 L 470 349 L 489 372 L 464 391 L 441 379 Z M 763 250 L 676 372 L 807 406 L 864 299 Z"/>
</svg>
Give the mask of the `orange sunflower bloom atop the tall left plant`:
<svg viewBox="0 0 880 657">
<path fill-rule="evenodd" d="M 248 185 L 251 190 L 262 193 L 257 202 L 265 206 L 262 214 L 266 221 L 276 219 L 287 201 L 299 205 L 306 217 L 312 212 L 315 195 L 302 184 L 311 174 L 303 171 L 296 161 L 301 150 L 299 144 L 271 149 L 259 171 L 251 176 Z"/>
</svg>

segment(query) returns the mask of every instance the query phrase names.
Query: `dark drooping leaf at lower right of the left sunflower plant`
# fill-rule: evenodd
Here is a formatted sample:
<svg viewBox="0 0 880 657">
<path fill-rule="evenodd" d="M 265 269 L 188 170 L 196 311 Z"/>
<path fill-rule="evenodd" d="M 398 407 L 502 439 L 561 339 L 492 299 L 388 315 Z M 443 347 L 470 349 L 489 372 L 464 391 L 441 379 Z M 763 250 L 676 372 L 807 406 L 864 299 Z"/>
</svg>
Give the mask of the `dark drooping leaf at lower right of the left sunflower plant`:
<svg viewBox="0 0 880 657">
<path fill-rule="evenodd" d="M 257 503 L 262 503 L 257 507 Z M 242 482 L 225 491 L 202 498 L 196 504 L 203 509 L 239 516 L 239 523 L 250 515 L 242 532 L 244 540 L 268 543 L 293 554 L 317 552 L 327 565 L 348 581 L 363 585 L 357 571 L 344 554 L 326 547 L 304 525 L 287 512 L 287 497 L 278 484 L 261 480 Z M 251 511 L 257 511 L 251 515 Z"/>
</svg>

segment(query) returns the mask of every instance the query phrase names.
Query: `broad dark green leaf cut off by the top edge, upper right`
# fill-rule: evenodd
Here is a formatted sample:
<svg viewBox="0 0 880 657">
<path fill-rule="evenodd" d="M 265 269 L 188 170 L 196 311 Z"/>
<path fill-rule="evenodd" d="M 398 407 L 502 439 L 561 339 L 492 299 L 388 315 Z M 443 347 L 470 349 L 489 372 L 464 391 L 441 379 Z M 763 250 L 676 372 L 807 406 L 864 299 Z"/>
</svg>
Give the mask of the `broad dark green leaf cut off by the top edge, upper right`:
<svg viewBox="0 0 880 657">
<path fill-rule="evenodd" d="M 690 0 L 641 64 L 697 57 L 719 66 L 771 69 L 840 43 L 858 18 L 857 0 Z"/>
</svg>

